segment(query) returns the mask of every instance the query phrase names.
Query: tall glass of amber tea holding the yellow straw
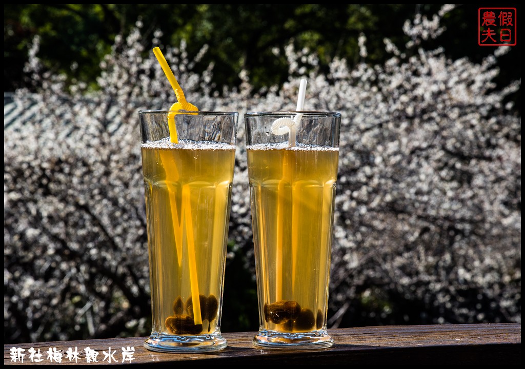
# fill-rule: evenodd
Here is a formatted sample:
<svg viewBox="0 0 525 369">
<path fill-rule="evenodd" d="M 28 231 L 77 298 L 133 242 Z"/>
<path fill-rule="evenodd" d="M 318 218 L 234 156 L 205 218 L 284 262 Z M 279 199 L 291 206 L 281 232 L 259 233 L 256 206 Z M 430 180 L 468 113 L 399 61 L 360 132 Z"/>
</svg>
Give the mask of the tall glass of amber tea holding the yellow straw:
<svg viewBox="0 0 525 369">
<path fill-rule="evenodd" d="M 238 113 L 140 111 L 152 331 L 159 352 L 224 349 L 223 277 Z M 173 132 L 173 131 L 172 131 Z"/>
</svg>

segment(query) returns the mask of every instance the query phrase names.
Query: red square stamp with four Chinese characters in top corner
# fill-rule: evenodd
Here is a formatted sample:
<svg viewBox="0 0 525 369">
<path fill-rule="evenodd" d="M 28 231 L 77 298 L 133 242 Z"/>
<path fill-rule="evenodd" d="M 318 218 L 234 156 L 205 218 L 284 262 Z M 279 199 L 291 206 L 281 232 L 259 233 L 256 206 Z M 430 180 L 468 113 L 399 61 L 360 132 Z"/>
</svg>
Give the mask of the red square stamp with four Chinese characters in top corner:
<svg viewBox="0 0 525 369">
<path fill-rule="evenodd" d="M 516 8 L 479 8 L 478 45 L 516 45 Z"/>
</svg>

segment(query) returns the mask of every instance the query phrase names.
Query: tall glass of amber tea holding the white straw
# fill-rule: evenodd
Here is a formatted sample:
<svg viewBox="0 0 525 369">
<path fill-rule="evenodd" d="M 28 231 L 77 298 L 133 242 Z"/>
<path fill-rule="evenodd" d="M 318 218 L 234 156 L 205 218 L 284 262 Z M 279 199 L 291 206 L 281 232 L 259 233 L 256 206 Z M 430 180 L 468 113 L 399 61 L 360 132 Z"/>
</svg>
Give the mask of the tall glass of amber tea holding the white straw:
<svg viewBox="0 0 525 369">
<path fill-rule="evenodd" d="M 330 347 L 326 324 L 341 114 L 255 112 L 244 119 L 260 323 L 253 343 Z M 272 133 L 275 123 L 292 120 L 299 123 L 293 135 Z"/>
</svg>

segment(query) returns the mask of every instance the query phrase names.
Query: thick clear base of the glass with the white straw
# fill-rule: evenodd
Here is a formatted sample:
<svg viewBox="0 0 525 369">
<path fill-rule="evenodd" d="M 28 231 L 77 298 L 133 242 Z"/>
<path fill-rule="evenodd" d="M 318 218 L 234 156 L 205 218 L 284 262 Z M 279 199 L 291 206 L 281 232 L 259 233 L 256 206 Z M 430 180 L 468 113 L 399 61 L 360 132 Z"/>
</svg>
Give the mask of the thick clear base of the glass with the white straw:
<svg viewBox="0 0 525 369">
<path fill-rule="evenodd" d="M 304 333 L 283 333 L 259 330 L 253 344 L 266 349 L 326 349 L 333 345 L 333 338 L 325 330 Z"/>
</svg>

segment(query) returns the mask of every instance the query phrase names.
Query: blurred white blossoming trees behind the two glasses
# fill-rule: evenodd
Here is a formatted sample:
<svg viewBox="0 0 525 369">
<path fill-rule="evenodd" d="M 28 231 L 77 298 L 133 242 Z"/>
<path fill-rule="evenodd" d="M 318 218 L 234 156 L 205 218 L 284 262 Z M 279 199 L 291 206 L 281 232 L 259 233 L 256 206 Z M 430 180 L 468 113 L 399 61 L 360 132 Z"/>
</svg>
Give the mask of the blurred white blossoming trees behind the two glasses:
<svg viewBox="0 0 525 369">
<path fill-rule="evenodd" d="M 285 39 L 266 85 L 242 62 L 217 82 L 213 45 L 140 20 L 89 81 L 31 38 L 30 84 L 4 99 L 4 343 L 150 333 L 137 117 L 175 101 L 154 46 L 199 110 L 240 114 L 223 332 L 258 330 L 243 114 L 294 110 L 300 78 L 306 110 L 342 113 L 328 328 L 521 322 L 521 77 L 501 82 L 511 47 L 439 47 L 456 10 L 360 31 L 352 59 Z"/>
</svg>

